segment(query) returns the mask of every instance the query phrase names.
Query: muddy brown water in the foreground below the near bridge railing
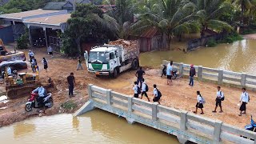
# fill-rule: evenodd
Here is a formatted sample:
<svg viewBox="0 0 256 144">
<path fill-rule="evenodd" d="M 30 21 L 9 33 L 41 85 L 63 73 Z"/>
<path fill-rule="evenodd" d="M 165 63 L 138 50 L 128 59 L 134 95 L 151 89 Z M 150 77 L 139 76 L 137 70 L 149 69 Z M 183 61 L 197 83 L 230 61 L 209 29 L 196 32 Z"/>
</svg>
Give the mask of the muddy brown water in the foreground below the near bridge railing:
<svg viewBox="0 0 256 144">
<path fill-rule="evenodd" d="M 124 118 L 93 110 L 78 118 L 71 114 L 32 118 L 0 128 L 1 143 L 178 143 L 177 138 Z"/>
</svg>

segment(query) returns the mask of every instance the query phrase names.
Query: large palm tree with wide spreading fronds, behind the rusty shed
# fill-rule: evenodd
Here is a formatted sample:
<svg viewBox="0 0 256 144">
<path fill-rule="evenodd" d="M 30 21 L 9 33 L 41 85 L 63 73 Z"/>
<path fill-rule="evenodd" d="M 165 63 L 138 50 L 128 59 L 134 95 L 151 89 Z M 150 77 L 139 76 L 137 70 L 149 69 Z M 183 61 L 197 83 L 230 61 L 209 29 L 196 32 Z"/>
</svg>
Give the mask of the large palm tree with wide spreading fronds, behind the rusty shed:
<svg viewBox="0 0 256 144">
<path fill-rule="evenodd" d="M 190 33 L 192 29 L 198 30 L 195 23 L 194 4 L 183 3 L 182 0 L 160 0 L 143 14 L 139 14 L 138 21 L 131 26 L 134 33 L 141 33 L 155 27 L 167 37 L 168 48 L 174 35 Z"/>
</svg>

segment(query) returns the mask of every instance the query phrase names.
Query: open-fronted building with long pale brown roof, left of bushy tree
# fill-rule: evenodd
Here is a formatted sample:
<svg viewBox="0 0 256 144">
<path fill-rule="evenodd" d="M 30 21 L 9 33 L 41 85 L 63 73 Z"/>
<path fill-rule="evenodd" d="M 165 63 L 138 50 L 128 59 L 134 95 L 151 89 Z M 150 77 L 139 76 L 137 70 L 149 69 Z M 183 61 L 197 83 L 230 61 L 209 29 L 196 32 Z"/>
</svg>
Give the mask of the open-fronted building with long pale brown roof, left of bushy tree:
<svg viewBox="0 0 256 144">
<path fill-rule="evenodd" d="M 54 42 L 58 32 L 63 33 L 66 30 L 66 22 L 70 18 L 67 10 L 30 10 L 20 13 L 1 14 L 0 19 L 6 22 L 6 25 L 12 26 L 11 34 L 8 37 L 17 39 L 20 35 L 29 30 L 30 43 L 33 46 L 50 46 L 55 44 L 59 47 L 58 42 Z M 5 31 L 0 33 L 7 35 Z M 0 38 L 1 38 L 0 34 Z"/>
</svg>

